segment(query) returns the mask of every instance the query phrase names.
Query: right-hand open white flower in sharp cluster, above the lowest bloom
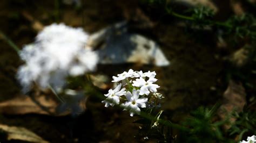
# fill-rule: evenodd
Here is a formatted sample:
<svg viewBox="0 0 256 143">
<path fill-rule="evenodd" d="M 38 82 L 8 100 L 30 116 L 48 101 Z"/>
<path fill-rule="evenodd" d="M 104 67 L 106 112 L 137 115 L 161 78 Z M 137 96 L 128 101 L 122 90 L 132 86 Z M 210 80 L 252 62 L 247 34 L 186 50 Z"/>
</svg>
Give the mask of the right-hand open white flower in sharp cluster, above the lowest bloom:
<svg viewBox="0 0 256 143">
<path fill-rule="evenodd" d="M 157 92 L 157 88 L 159 88 L 159 85 L 153 84 L 156 82 L 157 79 L 154 77 L 150 77 L 149 80 L 145 81 L 143 77 L 137 78 L 136 81 L 133 81 L 134 87 L 140 87 L 139 95 L 149 95 L 151 92 Z"/>
</svg>

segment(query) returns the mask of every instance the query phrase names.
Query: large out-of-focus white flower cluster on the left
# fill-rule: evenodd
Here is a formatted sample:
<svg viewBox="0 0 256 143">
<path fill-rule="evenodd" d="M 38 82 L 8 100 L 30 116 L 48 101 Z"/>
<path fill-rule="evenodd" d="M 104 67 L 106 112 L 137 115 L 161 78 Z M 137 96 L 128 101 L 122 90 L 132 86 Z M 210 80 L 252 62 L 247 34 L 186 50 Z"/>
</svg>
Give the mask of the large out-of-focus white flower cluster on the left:
<svg viewBox="0 0 256 143">
<path fill-rule="evenodd" d="M 33 82 L 43 89 L 51 85 L 58 91 L 67 76 L 94 70 L 98 55 L 85 47 L 88 37 L 82 28 L 64 24 L 46 26 L 36 42 L 24 46 L 20 52 L 25 64 L 19 67 L 17 78 L 23 91 L 30 90 Z"/>
</svg>

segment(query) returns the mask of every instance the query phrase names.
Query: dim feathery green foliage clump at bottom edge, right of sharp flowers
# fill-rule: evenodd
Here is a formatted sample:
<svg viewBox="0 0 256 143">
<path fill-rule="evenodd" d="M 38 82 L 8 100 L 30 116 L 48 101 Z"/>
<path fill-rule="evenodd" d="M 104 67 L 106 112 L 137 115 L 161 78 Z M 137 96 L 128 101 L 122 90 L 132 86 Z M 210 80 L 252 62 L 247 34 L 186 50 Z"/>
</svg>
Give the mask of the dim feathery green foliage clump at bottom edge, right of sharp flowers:
<svg viewBox="0 0 256 143">
<path fill-rule="evenodd" d="M 179 142 L 232 142 L 224 137 L 221 130 L 221 126 L 226 121 L 214 121 L 218 107 L 218 105 L 215 105 L 211 110 L 200 107 L 192 112 L 191 117 L 183 122 L 183 125 L 190 128 L 190 130 L 181 132 L 180 137 L 178 137 Z"/>
</svg>

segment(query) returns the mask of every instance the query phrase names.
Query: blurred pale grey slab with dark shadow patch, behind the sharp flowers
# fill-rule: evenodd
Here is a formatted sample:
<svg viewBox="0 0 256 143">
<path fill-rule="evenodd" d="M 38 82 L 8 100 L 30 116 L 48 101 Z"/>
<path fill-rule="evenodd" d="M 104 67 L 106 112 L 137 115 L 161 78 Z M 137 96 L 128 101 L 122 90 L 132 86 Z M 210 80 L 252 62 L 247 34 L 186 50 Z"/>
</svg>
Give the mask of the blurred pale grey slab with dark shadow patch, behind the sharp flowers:
<svg viewBox="0 0 256 143">
<path fill-rule="evenodd" d="M 127 23 L 121 22 L 92 34 L 88 46 L 97 49 L 99 63 L 140 63 L 168 66 L 159 45 L 143 35 L 127 32 Z"/>
</svg>

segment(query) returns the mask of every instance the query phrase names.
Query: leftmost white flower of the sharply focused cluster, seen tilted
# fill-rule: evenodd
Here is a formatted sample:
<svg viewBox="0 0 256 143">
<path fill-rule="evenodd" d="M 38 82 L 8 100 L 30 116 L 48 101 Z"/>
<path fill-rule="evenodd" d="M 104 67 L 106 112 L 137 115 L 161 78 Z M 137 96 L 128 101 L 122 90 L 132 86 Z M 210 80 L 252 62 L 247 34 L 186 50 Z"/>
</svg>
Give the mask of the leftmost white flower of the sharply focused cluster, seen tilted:
<svg viewBox="0 0 256 143">
<path fill-rule="evenodd" d="M 107 98 L 102 101 L 102 103 L 105 103 L 105 107 L 108 107 L 109 105 L 114 106 L 116 104 L 119 104 L 119 97 L 126 94 L 125 88 L 121 89 L 121 86 L 122 84 L 118 84 L 118 86 L 114 90 L 110 89 L 109 93 L 105 94 Z"/>
</svg>

